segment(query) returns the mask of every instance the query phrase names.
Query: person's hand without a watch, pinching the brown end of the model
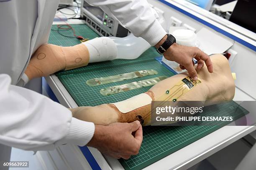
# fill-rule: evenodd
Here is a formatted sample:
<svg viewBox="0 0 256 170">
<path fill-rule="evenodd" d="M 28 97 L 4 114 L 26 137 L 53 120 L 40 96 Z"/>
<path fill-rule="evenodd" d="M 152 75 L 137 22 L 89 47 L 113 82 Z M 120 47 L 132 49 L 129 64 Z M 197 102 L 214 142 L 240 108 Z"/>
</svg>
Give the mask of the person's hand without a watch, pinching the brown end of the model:
<svg viewBox="0 0 256 170">
<path fill-rule="evenodd" d="M 129 159 L 131 155 L 138 154 L 142 139 L 142 127 L 138 120 L 107 126 L 95 125 L 95 133 L 87 146 L 113 158 Z"/>
</svg>

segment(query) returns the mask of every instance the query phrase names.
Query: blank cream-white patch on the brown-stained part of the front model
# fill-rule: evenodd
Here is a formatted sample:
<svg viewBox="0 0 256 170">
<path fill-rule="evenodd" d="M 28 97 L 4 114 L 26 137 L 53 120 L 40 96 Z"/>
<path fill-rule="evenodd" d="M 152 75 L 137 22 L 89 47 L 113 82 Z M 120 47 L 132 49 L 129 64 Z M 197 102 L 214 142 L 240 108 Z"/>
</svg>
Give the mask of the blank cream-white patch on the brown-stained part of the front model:
<svg viewBox="0 0 256 170">
<path fill-rule="evenodd" d="M 115 105 L 118 110 L 122 113 L 131 112 L 139 107 L 149 105 L 152 99 L 146 93 L 141 93 L 129 99 L 123 100 L 121 102 L 110 103 Z"/>
</svg>

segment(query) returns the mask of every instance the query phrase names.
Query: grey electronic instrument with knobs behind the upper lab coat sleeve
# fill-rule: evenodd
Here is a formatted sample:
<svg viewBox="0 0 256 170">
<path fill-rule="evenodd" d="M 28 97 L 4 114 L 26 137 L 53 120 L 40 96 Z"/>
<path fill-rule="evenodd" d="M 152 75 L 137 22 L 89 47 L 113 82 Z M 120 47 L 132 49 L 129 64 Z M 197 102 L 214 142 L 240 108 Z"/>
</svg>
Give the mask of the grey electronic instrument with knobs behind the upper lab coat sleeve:
<svg viewBox="0 0 256 170">
<path fill-rule="evenodd" d="M 126 37 L 129 30 L 104 13 L 100 7 L 89 5 L 85 0 L 81 3 L 80 16 L 92 30 L 101 36 Z"/>
</svg>

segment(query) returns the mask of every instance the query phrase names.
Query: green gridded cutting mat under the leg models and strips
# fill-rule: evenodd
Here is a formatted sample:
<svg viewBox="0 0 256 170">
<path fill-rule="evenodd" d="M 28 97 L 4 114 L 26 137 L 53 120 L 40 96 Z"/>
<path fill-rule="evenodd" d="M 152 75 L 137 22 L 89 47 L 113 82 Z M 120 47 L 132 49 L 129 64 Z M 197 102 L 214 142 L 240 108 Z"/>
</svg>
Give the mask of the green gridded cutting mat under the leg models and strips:
<svg viewBox="0 0 256 170">
<path fill-rule="evenodd" d="M 72 25 L 76 30 L 77 35 L 82 35 L 87 38 L 94 38 L 98 35 L 93 32 L 86 25 Z M 53 26 L 56 29 L 56 26 Z M 64 32 L 61 32 L 64 33 Z M 72 32 L 65 32 L 71 36 Z M 51 31 L 49 43 L 71 46 L 79 43 L 75 38 L 68 38 L 59 35 L 56 31 Z M 100 89 L 110 87 L 113 85 L 125 84 L 137 80 L 144 80 L 151 77 L 166 75 L 168 77 L 174 75 L 166 67 L 162 66 L 159 62 L 154 60 L 154 57 L 159 56 L 154 48 L 150 48 L 144 52 L 141 57 L 136 60 L 113 60 L 100 63 L 92 63 L 87 67 L 82 67 L 65 72 L 58 72 L 56 75 L 59 80 L 67 88 L 70 95 L 74 98 L 79 106 L 95 106 L 103 103 L 118 102 L 125 100 L 134 95 L 146 92 L 150 87 L 143 87 L 136 90 L 131 90 L 115 95 L 103 96 L 100 94 Z M 109 75 L 122 74 L 138 70 L 154 69 L 158 75 L 151 75 L 140 77 L 133 80 L 125 80 L 122 82 L 115 82 L 105 85 L 88 86 L 86 80 L 105 77 Z M 237 109 L 238 108 L 238 109 Z M 205 107 L 204 115 L 232 115 L 236 118 L 241 117 L 247 113 L 242 107 L 238 106 L 235 102 L 229 102 L 221 105 Z M 239 110 L 239 111 L 238 111 Z M 146 166 L 164 158 L 165 156 L 174 153 L 175 151 L 183 148 L 190 143 L 212 133 L 224 126 L 225 123 L 220 125 L 208 126 L 181 126 L 181 127 L 143 127 L 143 143 L 138 155 L 132 156 L 129 160 L 120 159 L 120 163 L 126 170 L 139 170 Z"/>
</svg>

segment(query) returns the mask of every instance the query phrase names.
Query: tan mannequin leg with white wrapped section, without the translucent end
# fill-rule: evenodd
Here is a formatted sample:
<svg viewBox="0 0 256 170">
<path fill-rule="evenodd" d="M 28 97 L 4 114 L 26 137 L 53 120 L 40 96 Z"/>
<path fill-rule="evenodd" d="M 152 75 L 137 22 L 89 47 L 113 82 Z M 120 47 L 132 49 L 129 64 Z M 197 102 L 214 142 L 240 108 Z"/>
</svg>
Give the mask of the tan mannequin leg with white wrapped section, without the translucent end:
<svg viewBox="0 0 256 170">
<path fill-rule="evenodd" d="M 71 47 L 44 44 L 33 53 L 22 79 L 25 83 L 36 77 L 44 77 L 60 70 L 71 70 L 115 59 L 117 48 L 109 37 L 95 38 Z"/>
</svg>

